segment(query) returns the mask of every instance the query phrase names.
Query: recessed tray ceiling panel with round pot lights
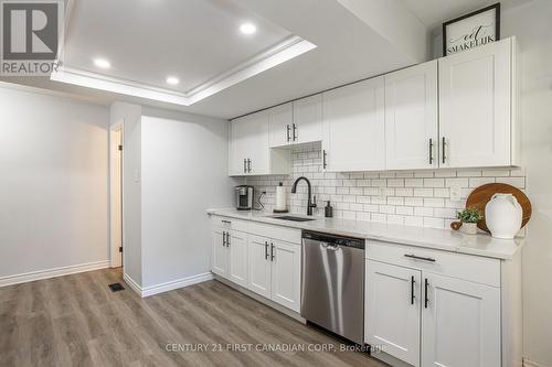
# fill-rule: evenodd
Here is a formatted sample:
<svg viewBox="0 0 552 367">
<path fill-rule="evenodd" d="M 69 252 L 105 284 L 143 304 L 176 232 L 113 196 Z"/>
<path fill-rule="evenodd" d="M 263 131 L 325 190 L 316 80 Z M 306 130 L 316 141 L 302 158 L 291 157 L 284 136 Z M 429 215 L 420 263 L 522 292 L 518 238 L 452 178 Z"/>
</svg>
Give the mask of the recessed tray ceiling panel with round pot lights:
<svg viewBox="0 0 552 367">
<path fill-rule="evenodd" d="M 256 24 L 258 32 L 242 34 L 244 22 Z M 187 93 L 291 35 L 233 1 L 77 0 L 64 64 Z M 96 67 L 97 57 L 112 67 Z M 168 76 L 180 84 L 168 85 Z"/>
</svg>

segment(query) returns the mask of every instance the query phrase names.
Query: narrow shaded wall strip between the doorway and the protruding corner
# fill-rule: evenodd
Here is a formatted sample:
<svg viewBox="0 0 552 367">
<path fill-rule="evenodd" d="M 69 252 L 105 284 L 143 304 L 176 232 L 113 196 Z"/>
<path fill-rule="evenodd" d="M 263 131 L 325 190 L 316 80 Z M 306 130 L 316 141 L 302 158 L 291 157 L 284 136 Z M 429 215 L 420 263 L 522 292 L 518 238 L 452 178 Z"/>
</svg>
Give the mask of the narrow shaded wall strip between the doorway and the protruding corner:
<svg viewBox="0 0 552 367">
<path fill-rule="evenodd" d="M 124 126 L 123 269 L 127 277 L 141 287 L 141 107 L 123 102 L 113 104 L 110 126 L 120 123 Z"/>
</svg>

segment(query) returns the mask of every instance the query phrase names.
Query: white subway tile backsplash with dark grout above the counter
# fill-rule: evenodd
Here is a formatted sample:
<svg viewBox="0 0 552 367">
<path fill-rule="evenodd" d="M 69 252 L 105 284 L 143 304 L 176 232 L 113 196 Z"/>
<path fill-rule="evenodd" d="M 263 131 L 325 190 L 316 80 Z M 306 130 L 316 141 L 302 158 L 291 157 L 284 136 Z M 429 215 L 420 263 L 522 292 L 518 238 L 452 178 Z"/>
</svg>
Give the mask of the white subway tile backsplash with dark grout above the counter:
<svg viewBox="0 0 552 367">
<path fill-rule="evenodd" d="M 526 188 L 524 169 L 322 172 L 320 149 L 320 143 L 294 147 L 290 175 L 247 177 L 245 183 L 255 186 L 256 197 L 266 191 L 262 201 L 267 211 L 273 209 L 276 186 L 283 182 L 289 211 L 305 214 L 307 186 L 300 183 L 297 194 L 290 193 L 295 179 L 305 175 L 319 203 L 316 216 L 323 216 L 323 206 L 330 201 L 338 218 L 432 228 L 448 228 L 469 193 L 482 184 L 501 182 Z M 460 187 L 460 201 L 450 201 L 450 187 Z"/>
</svg>

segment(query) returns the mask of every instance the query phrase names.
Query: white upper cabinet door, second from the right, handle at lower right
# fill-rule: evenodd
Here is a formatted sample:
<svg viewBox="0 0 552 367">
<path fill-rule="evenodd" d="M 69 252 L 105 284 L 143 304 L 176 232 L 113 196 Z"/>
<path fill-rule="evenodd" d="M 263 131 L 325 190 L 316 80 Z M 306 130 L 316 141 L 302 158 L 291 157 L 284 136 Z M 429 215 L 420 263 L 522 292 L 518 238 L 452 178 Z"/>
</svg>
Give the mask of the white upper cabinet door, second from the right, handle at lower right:
<svg viewBox="0 0 552 367">
<path fill-rule="evenodd" d="M 385 168 L 437 168 L 437 61 L 385 75 Z"/>
</svg>

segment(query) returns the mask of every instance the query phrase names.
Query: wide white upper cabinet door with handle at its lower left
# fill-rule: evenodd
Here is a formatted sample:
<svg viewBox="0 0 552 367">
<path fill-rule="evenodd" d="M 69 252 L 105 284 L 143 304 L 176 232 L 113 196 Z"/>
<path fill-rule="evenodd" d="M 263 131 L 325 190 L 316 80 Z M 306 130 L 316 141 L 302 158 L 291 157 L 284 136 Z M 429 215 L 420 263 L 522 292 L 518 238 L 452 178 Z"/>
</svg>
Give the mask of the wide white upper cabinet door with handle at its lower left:
<svg viewBox="0 0 552 367">
<path fill-rule="evenodd" d="M 385 169 L 383 77 L 326 91 L 322 118 L 326 171 Z"/>
</svg>

